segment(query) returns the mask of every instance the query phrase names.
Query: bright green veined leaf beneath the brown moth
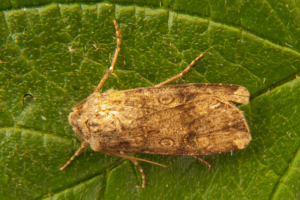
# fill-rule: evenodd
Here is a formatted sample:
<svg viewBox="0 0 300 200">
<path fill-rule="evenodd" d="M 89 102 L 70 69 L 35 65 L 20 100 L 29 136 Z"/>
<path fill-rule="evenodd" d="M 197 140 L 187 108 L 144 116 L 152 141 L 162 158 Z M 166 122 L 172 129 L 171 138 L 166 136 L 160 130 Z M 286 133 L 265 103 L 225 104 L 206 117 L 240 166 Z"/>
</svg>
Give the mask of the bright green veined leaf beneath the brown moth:
<svg viewBox="0 0 300 200">
<path fill-rule="evenodd" d="M 63 1 L 61 1 L 63 2 Z M 296 1 L 0 3 L 1 199 L 298 199 L 300 10 Z M 38 7 L 36 7 L 38 6 Z M 147 87 L 204 52 L 180 83 L 228 83 L 251 93 L 252 141 L 241 151 L 191 157 L 135 154 L 167 165 L 80 147 L 68 124 L 89 96 L 122 34 L 102 91 Z"/>
</svg>

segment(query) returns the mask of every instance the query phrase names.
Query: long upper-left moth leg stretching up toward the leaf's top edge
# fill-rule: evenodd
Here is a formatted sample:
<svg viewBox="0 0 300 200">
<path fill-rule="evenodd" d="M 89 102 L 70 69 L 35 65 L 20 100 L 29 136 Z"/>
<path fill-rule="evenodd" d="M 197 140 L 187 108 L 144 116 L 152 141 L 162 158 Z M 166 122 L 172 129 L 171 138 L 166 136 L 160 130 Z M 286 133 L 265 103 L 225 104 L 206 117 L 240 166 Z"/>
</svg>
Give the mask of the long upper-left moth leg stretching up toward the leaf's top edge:
<svg viewBox="0 0 300 200">
<path fill-rule="evenodd" d="M 99 92 L 99 90 L 101 89 L 101 87 L 103 86 L 104 82 L 106 81 L 106 79 L 111 75 L 111 73 L 113 72 L 114 70 L 114 67 L 115 67 L 115 64 L 117 62 L 117 57 L 119 55 L 119 52 L 121 50 L 120 46 L 121 46 L 121 33 L 119 31 L 119 28 L 118 28 L 118 24 L 116 22 L 116 20 L 113 20 L 114 22 L 114 25 L 115 25 L 115 29 L 116 29 L 116 37 L 117 37 L 117 47 L 116 47 L 116 50 L 115 50 L 115 54 L 114 54 L 114 57 L 112 59 L 112 62 L 111 62 L 111 66 L 110 68 L 106 71 L 106 73 L 104 74 L 103 78 L 101 79 L 100 83 L 98 84 L 98 86 L 95 88 L 94 92 Z"/>
</svg>

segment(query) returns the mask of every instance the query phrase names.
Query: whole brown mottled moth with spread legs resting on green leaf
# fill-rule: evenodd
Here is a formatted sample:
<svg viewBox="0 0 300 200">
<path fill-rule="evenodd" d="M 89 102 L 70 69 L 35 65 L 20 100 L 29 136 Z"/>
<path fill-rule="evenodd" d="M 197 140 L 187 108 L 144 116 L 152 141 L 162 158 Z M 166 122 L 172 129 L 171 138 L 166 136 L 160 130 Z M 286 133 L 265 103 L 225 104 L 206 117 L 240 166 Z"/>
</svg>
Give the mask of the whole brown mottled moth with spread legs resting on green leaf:
<svg viewBox="0 0 300 200">
<path fill-rule="evenodd" d="M 120 52 L 121 34 L 117 22 L 113 23 L 117 47 L 111 67 L 94 92 L 69 115 L 81 147 L 61 170 L 90 146 L 94 151 L 130 159 L 139 168 L 145 188 L 145 174 L 137 161 L 146 160 L 125 152 L 192 156 L 210 167 L 197 156 L 232 152 L 249 144 L 251 135 L 244 113 L 230 102 L 247 104 L 246 88 L 209 83 L 166 85 L 187 73 L 202 53 L 183 72 L 158 85 L 100 93 Z"/>
</svg>

